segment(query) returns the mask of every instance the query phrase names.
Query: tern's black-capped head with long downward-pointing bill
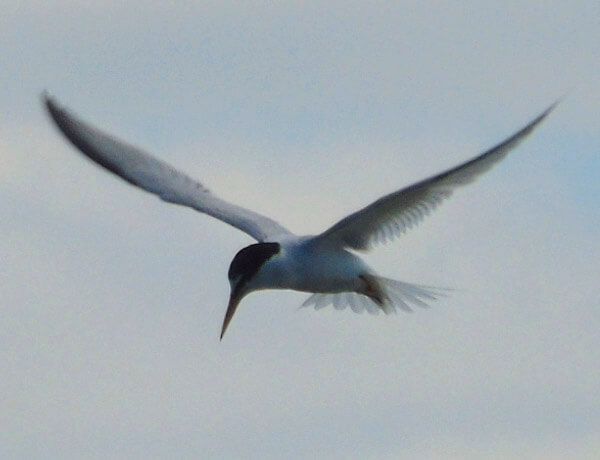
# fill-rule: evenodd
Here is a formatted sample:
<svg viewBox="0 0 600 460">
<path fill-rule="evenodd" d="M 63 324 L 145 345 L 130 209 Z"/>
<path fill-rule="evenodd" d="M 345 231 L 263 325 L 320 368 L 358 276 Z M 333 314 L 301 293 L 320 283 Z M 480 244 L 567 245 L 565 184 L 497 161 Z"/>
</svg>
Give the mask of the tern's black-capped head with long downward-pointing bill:
<svg viewBox="0 0 600 460">
<path fill-rule="evenodd" d="M 281 246 L 279 243 L 256 243 L 241 249 L 231 261 L 229 272 L 229 285 L 231 286 L 231 295 L 229 305 L 223 320 L 221 328 L 221 339 L 229 326 L 231 318 L 237 309 L 240 301 L 245 295 L 249 294 L 255 288 L 252 287 L 252 280 L 261 270 L 264 264 L 273 256 L 279 253 Z"/>
</svg>

